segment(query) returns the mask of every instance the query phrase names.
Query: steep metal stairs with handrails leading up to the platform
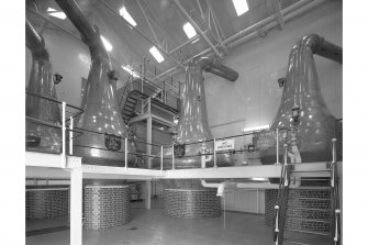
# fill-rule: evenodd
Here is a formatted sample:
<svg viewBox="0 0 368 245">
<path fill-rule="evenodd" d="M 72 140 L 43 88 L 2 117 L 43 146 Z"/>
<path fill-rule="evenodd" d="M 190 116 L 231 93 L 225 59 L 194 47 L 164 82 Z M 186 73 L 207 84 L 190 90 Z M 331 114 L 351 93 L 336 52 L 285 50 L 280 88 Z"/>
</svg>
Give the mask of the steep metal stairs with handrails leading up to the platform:
<svg viewBox="0 0 368 245">
<path fill-rule="evenodd" d="M 288 164 L 287 145 L 281 168 L 281 178 L 274 212 L 274 242 L 276 245 L 339 245 L 341 244 L 341 210 L 338 197 L 338 174 L 336 162 L 336 140 L 333 144 L 333 160 L 326 163 L 325 169 L 298 170 L 295 165 Z M 303 176 L 315 176 L 305 178 Z M 327 177 L 319 177 L 327 176 Z M 298 183 L 299 181 L 299 183 Z M 300 187 L 300 182 L 316 182 L 319 186 Z M 297 185 L 295 185 L 297 183 Z M 325 185 L 327 183 L 327 185 Z M 308 197 L 292 197 L 291 190 L 298 188 L 303 191 L 312 191 Z M 327 191 L 330 198 L 319 197 L 317 191 Z M 312 196 L 313 193 L 314 196 Z M 312 197 L 311 197 L 312 196 Z M 308 213 L 305 213 L 308 211 Z M 317 216 L 317 219 L 315 218 Z M 313 227 L 314 231 L 303 229 Z M 312 229 L 313 230 L 313 229 Z"/>
</svg>

